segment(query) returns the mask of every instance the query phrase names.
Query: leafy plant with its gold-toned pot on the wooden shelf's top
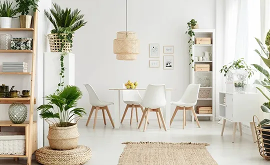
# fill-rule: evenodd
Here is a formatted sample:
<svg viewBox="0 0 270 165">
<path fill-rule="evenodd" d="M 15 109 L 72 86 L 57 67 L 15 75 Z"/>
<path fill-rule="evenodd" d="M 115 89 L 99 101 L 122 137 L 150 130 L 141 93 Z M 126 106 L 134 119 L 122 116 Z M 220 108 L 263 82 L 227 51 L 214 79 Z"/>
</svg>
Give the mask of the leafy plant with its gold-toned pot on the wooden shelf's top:
<svg viewBox="0 0 270 165">
<path fill-rule="evenodd" d="M 20 28 L 31 28 L 32 15 L 28 15 L 29 10 L 33 9 L 35 12 L 37 10 L 37 2 L 39 0 L 16 0 L 18 6 L 19 24 Z"/>
</svg>

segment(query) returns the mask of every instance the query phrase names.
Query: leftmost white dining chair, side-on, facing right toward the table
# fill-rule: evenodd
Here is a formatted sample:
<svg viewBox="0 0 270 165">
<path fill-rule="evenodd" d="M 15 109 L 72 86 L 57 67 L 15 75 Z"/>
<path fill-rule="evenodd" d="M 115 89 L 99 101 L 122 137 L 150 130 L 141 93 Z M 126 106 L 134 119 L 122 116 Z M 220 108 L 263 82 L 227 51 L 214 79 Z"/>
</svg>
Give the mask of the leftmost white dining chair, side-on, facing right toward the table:
<svg viewBox="0 0 270 165">
<path fill-rule="evenodd" d="M 93 113 L 93 111 L 95 109 L 94 123 L 93 123 L 93 128 L 95 128 L 97 112 L 98 112 L 99 109 L 101 109 L 102 110 L 104 124 L 106 125 L 106 118 L 105 118 L 105 110 L 106 110 L 106 112 L 108 114 L 108 117 L 109 117 L 109 120 L 111 122 L 111 125 L 112 125 L 112 127 L 114 127 L 114 123 L 113 123 L 113 120 L 111 118 L 111 115 L 110 115 L 110 112 L 109 112 L 109 109 L 108 109 L 108 105 L 113 104 L 113 102 L 101 101 L 98 98 L 98 96 L 96 95 L 93 87 L 90 84 L 84 84 L 84 85 L 85 85 L 85 87 L 86 87 L 86 89 L 88 91 L 89 101 L 90 101 L 90 104 L 92 105 L 90 114 L 89 114 L 88 119 L 87 119 L 87 122 L 86 122 L 86 126 L 88 126 L 88 123 L 90 121 L 91 115 L 92 115 L 92 113 Z"/>
</svg>

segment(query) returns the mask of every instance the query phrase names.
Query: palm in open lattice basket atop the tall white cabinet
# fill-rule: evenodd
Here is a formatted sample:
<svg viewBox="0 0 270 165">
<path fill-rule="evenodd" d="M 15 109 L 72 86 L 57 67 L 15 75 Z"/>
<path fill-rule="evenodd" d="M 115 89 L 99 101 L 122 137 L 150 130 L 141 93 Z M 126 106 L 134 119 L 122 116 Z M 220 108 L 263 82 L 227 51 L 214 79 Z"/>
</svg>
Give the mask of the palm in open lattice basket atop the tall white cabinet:
<svg viewBox="0 0 270 165">
<path fill-rule="evenodd" d="M 84 15 L 80 14 L 80 10 L 78 9 L 61 9 L 56 3 L 52 3 L 52 5 L 54 8 L 44 11 L 46 17 L 54 27 L 50 31 L 51 33 L 48 34 L 50 51 L 71 52 L 74 31 L 84 26 L 87 22 L 84 21 Z"/>
</svg>

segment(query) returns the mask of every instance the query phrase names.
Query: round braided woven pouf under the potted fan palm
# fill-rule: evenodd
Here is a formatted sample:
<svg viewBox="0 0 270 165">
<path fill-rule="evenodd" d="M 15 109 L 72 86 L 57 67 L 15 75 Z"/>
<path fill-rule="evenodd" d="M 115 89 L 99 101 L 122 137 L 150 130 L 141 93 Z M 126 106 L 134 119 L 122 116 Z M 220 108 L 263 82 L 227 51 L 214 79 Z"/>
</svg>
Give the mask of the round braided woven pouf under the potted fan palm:
<svg viewBox="0 0 270 165">
<path fill-rule="evenodd" d="M 54 150 L 45 146 L 35 152 L 36 161 L 44 165 L 80 165 L 91 156 L 91 149 L 84 145 L 78 145 L 70 150 Z"/>
</svg>

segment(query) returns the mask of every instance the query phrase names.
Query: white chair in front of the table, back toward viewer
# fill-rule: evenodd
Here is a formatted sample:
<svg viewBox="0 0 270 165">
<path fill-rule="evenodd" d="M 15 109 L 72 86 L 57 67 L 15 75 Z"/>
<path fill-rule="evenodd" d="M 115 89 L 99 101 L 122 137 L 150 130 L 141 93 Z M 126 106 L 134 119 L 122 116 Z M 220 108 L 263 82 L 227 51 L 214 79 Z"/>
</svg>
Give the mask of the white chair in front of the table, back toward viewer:
<svg viewBox="0 0 270 165">
<path fill-rule="evenodd" d="M 160 107 L 164 107 L 166 105 L 166 87 L 164 84 L 161 84 L 161 85 L 149 84 L 146 88 L 145 94 L 143 96 L 142 101 L 140 102 L 140 105 L 145 107 L 145 109 L 141 116 L 138 128 L 140 128 L 142 120 L 144 116 L 146 116 L 144 128 L 143 128 L 143 131 L 145 131 L 149 112 L 154 111 L 156 113 L 159 128 L 161 128 L 160 121 L 159 121 L 159 118 L 160 118 L 163 124 L 164 130 L 167 131 L 165 121 L 164 121 L 162 112 L 160 110 Z"/>
</svg>

